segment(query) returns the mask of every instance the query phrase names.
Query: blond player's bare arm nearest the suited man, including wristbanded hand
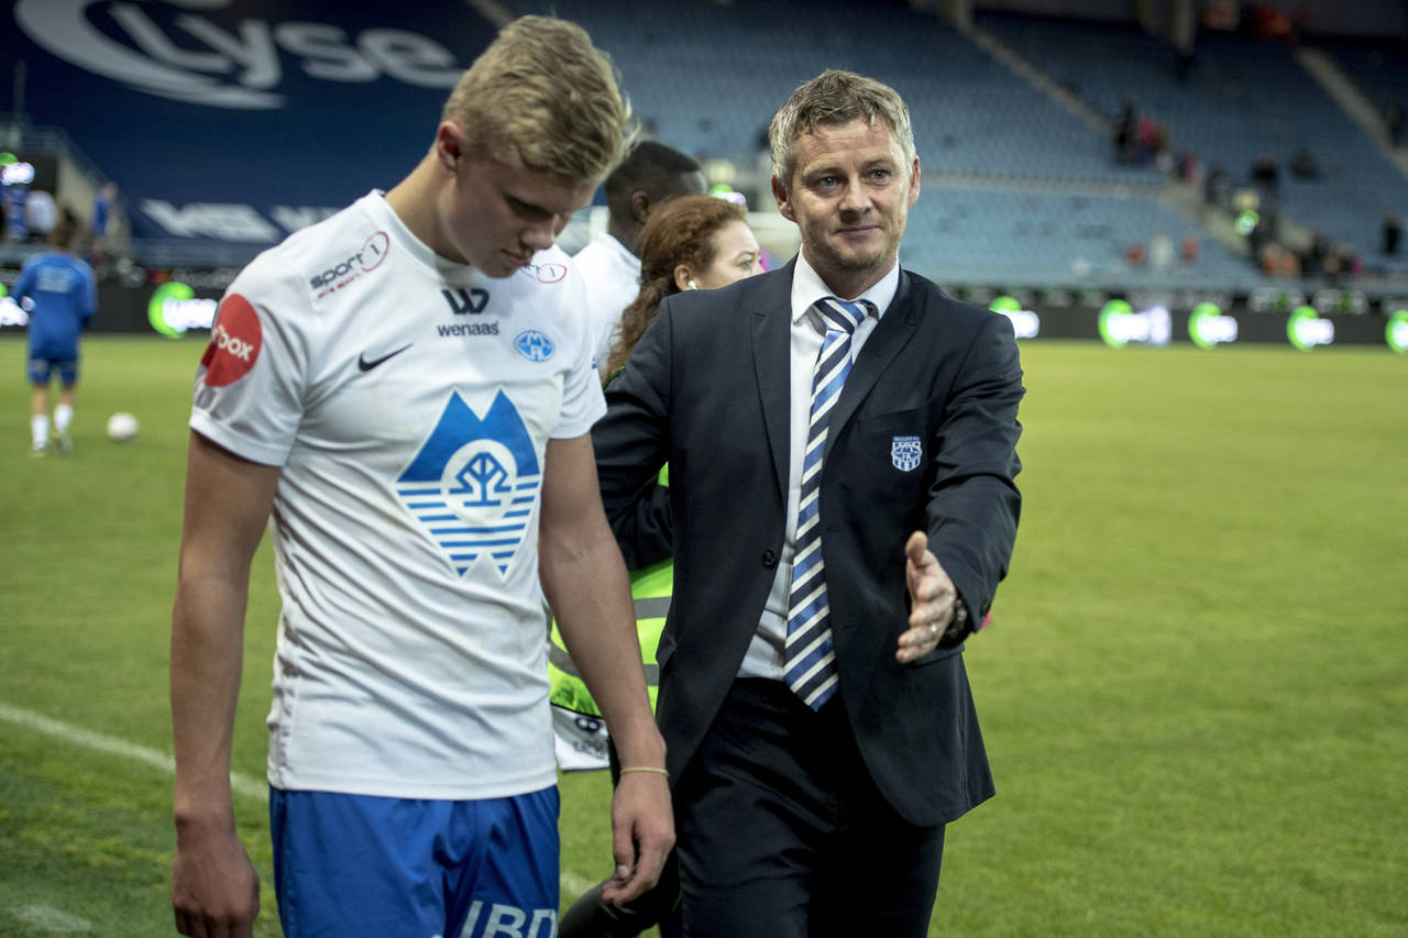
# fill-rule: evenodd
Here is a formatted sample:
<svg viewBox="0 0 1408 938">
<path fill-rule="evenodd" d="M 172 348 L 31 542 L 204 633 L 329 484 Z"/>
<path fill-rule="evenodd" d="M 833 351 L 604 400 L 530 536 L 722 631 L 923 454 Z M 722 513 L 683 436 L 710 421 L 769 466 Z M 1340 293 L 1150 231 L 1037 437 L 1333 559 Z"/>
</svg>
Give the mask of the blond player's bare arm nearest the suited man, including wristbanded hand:
<svg viewBox="0 0 1408 938">
<path fill-rule="evenodd" d="M 621 765 L 663 769 L 665 741 L 650 714 L 631 584 L 601 510 L 586 435 L 548 442 L 539 570 L 563 642 L 605 717 Z M 611 830 L 617 875 L 603 897 L 624 903 L 655 886 L 674 845 L 663 773 L 621 776 L 611 801 Z"/>
</svg>

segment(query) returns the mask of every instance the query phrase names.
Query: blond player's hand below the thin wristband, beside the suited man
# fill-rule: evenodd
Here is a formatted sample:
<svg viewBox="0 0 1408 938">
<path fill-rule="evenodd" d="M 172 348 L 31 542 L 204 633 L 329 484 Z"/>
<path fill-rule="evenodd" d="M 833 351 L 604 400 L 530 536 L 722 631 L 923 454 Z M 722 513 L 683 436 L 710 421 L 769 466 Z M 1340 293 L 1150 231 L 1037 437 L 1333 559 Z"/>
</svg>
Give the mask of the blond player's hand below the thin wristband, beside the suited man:
<svg viewBox="0 0 1408 938">
<path fill-rule="evenodd" d="M 669 779 L 655 772 L 624 773 L 611 799 L 611 855 L 617 868 L 601 897 L 620 906 L 655 889 L 673 848 Z"/>
</svg>

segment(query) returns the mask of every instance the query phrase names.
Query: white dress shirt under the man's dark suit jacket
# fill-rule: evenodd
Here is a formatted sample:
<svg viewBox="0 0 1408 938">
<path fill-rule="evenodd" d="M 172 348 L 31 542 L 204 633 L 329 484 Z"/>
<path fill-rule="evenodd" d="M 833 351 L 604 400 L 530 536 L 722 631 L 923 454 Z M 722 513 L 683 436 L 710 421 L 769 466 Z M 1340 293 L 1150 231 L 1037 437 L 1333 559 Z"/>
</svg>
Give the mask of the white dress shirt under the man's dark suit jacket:
<svg viewBox="0 0 1408 938">
<path fill-rule="evenodd" d="M 874 331 L 894 300 L 900 289 L 900 262 L 890 268 L 879 283 L 853 297 L 841 297 L 848 301 L 869 300 L 876 313 L 867 315 L 856 325 L 850 339 L 850 361 L 860 355 L 860 346 Z M 787 461 L 787 538 L 783 542 L 783 555 L 777 562 L 777 575 L 773 577 L 773 589 L 767 594 L 763 615 L 753 632 L 753 641 L 748 645 L 743 663 L 738 669 L 739 677 L 772 677 L 783 679 L 783 649 L 787 644 L 787 597 L 791 592 L 791 562 L 797 554 L 797 504 L 801 501 L 801 463 L 803 454 L 807 452 L 807 432 L 811 428 L 811 380 L 817 368 L 817 356 L 821 354 L 821 342 L 826 334 L 826 325 L 821 314 L 812 310 L 812 304 L 828 296 L 835 296 L 821 276 L 812 270 L 803 254 L 797 255 L 797 266 L 793 273 L 791 292 L 791 420 L 790 420 L 790 456 Z M 821 508 L 825 511 L 825 506 Z"/>
</svg>

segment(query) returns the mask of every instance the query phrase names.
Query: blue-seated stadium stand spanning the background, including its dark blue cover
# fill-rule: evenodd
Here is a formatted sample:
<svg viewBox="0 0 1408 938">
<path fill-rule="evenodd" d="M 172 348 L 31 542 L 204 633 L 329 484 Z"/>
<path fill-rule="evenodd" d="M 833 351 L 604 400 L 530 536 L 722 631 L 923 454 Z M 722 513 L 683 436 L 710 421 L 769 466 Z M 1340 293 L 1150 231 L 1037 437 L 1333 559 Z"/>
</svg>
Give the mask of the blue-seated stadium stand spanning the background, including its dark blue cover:
<svg viewBox="0 0 1408 938">
<path fill-rule="evenodd" d="M 398 42 L 444 41 L 445 54 L 463 62 L 487 42 L 493 23 L 482 10 L 491 6 L 431 0 L 387 13 L 387 24 L 401 31 Z M 1246 290 L 1284 282 L 1249 261 L 1245 232 L 1201 204 L 1195 177 L 1187 186 L 1171 179 L 1186 152 L 1204 170 L 1225 170 L 1233 190 L 1252 190 L 1253 162 L 1270 158 L 1280 172 L 1274 192 L 1260 190 L 1263 214 L 1274 217 L 1264 208 L 1278 203 L 1287 244 L 1304 251 L 1322 232 L 1363 261 L 1364 276 L 1408 277 L 1408 256 L 1377 251 L 1385 215 L 1408 207 L 1408 179 L 1284 44 L 1204 32 L 1191 62 L 1180 62 L 1166 39 L 1132 24 L 977 4 L 974 28 L 960 31 L 904 0 L 525 0 L 510 7 L 508 14 L 551 11 L 587 27 L 615 58 L 646 127 L 721 168 L 755 210 L 772 206 L 760 189 L 762 135 L 793 87 L 825 68 L 891 83 L 914 111 L 925 172 L 905 263 L 948 284 Z M 286 231 L 394 179 L 424 152 L 425 120 L 444 97 L 435 68 L 417 75 L 377 58 L 376 48 L 394 44 L 377 46 L 376 30 L 351 7 L 289 0 L 260 10 L 268 35 L 282 37 L 282 69 L 253 77 L 234 61 L 225 72 L 210 65 L 214 70 L 197 75 L 203 55 L 220 58 L 221 48 L 234 46 L 206 44 L 213 52 L 197 54 L 200 31 L 187 27 L 203 18 L 207 37 L 215 30 L 235 37 L 241 17 L 255 14 L 94 4 L 92 20 L 107 41 L 142 46 L 118 20 L 146 17 L 172 45 L 148 32 L 144 51 L 169 63 L 194 62 L 187 68 L 194 97 L 214 89 L 279 99 L 263 108 L 148 93 L 83 72 L 54 42 L 15 31 L 31 63 L 30 118 L 65 127 L 99 172 L 115 179 L 141 263 L 238 266 Z M 346 69 L 360 62 L 367 73 L 355 82 L 320 77 L 337 72 L 331 54 L 289 39 L 304 21 L 341 31 L 346 41 L 334 58 Z M 1326 41 L 1324 48 L 1376 107 L 1408 97 L 1401 44 Z M 453 72 L 448 59 L 424 62 Z M 1162 159 L 1115 158 L 1114 118 L 1126 99 L 1169 130 Z M 1316 177 L 1290 172 L 1300 151 Z M 566 241 L 580 239 L 584 228 L 584 218 L 576 220 Z M 1156 232 L 1174 245 L 1195 242 L 1195 259 L 1156 262 L 1149 256 Z"/>
</svg>

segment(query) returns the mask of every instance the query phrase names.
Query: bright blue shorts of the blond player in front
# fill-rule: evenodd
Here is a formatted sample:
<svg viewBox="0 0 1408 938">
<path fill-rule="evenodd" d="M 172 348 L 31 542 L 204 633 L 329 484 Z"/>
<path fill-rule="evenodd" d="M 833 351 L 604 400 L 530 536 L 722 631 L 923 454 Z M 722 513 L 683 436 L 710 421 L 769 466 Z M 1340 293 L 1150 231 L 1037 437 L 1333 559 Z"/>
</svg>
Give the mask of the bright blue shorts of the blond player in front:
<svg viewBox="0 0 1408 938">
<path fill-rule="evenodd" d="M 269 789 L 287 938 L 552 938 L 558 789 L 429 801 Z"/>
</svg>

